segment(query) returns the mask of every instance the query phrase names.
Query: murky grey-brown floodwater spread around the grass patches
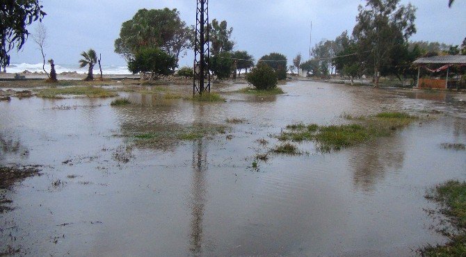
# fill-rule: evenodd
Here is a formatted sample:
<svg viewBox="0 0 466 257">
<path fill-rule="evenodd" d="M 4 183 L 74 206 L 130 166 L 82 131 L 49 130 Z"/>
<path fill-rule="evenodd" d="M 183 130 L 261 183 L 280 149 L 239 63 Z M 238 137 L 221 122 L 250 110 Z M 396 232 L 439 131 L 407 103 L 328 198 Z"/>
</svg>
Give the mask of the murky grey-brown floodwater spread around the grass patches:
<svg viewBox="0 0 466 257">
<path fill-rule="evenodd" d="M 241 85 L 234 85 L 241 88 Z M 466 96 L 289 82 L 286 94 L 227 92 L 222 103 L 111 99 L 0 102 L 0 165 L 43 165 L 8 197 L 1 249 L 30 256 L 412 256 L 445 242 L 424 209 L 428 188 L 466 179 Z M 186 90 L 190 90 L 186 88 Z M 296 122 L 394 110 L 427 117 L 390 138 L 302 156 L 255 155 Z M 226 134 L 160 146 L 122 135 L 228 124 Z M 231 135 L 227 138 L 227 135 Z M 259 139 L 268 140 L 263 146 Z M 70 177 L 69 177 L 70 176 Z M 76 176 L 76 177 L 74 177 Z"/>
</svg>

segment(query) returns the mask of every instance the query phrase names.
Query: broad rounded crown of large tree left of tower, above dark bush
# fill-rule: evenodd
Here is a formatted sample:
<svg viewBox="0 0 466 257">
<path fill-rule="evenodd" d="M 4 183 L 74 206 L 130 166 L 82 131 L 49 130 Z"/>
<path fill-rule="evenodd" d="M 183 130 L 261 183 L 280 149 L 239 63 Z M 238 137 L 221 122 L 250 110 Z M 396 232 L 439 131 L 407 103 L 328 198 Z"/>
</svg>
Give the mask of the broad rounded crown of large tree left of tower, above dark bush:
<svg viewBox="0 0 466 257">
<path fill-rule="evenodd" d="M 186 49 L 193 47 L 193 28 L 179 18 L 177 9 L 138 10 L 136 15 L 123 22 L 120 38 L 115 40 L 115 53 L 127 61 L 134 60 L 141 49 L 158 47 L 179 60 Z"/>
</svg>

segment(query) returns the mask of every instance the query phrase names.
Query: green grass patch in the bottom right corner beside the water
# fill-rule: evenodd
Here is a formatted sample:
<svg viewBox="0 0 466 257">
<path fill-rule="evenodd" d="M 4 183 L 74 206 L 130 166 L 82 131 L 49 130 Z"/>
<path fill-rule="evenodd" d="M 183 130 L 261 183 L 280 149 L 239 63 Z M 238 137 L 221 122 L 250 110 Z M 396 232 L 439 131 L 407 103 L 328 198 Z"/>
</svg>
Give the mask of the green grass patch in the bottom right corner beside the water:
<svg viewBox="0 0 466 257">
<path fill-rule="evenodd" d="M 446 215 L 457 233 L 446 234 L 450 241 L 435 247 L 419 249 L 424 256 L 465 256 L 466 254 L 466 182 L 448 181 L 437 185 L 426 194 L 440 204 L 440 212 Z"/>
</svg>

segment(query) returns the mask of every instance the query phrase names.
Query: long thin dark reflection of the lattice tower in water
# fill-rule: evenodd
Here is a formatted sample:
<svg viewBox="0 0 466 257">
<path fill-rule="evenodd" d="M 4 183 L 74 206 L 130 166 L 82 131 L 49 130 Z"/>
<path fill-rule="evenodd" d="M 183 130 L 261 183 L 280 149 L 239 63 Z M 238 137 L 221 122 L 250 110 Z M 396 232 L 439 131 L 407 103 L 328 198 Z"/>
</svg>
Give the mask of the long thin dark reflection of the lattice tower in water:
<svg viewBox="0 0 466 257">
<path fill-rule="evenodd" d="M 190 251 L 193 254 L 202 252 L 202 238 L 204 236 L 202 221 L 205 206 L 205 176 L 207 173 L 207 151 L 203 140 L 193 142 L 193 181 L 191 183 L 191 235 Z"/>
</svg>

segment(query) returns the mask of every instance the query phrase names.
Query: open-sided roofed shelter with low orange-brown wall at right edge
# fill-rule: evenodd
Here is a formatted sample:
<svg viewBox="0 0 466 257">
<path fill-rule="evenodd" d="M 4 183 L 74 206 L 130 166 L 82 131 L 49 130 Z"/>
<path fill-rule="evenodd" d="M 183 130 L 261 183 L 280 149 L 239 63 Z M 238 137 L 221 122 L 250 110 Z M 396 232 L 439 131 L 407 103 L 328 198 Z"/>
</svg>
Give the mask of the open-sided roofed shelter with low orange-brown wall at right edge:
<svg viewBox="0 0 466 257">
<path fill-rule="evenodd" d="M 465 82 L 460 78 L 454 81 L 449 81 L 450 67 L 466 66 L 466 56 L 432 56 L 423 57 L 414 61 L 413 65 L 417 65 L 417 88 L 465 88 Z M 428 65 L 439 66 L 437 69 L 431 69 Z M 446 79 L 440 78 L 419 78 L 421 67 L 427 69 L 431 73 L 442 72 L 447 70 Z"/>
</svg>

